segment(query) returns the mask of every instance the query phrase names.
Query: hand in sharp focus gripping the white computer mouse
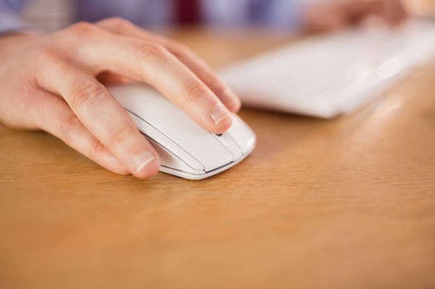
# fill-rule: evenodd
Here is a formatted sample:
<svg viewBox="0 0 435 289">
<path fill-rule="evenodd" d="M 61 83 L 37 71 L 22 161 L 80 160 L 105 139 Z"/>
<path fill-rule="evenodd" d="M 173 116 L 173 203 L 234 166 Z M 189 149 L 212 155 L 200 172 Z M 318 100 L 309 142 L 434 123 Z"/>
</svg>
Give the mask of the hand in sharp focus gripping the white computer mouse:
<svg viewBox="0 0 435 289">
<path fill-rule="evenodd" d="M 104 83 L 156 87 L 210 132 L 229 128 L 239 98 L 186 46 L 123 19 L 79 23 L 50 35 L 0 37 L 0 121 L 44 130 L 120 174 L 145 178 L 157 153 Z"/>
</svg>

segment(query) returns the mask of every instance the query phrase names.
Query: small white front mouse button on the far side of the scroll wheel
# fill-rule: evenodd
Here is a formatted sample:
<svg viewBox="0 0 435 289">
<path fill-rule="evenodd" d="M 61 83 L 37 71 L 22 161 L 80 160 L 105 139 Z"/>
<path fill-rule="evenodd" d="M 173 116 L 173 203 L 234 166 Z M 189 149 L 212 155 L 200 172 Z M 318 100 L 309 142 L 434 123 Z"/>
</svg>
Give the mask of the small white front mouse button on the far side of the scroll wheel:
<svg viewBox="0 0 435 289">
<path fill-rule="evenodd" d="M 236 141 L 243 155 L 251 152 L 254 149 L 256 135 L 249 126 L 240 119 L 237 115 L 233 116 L 233 124 L 227 130 L 231 138 Z"/>
</svg>

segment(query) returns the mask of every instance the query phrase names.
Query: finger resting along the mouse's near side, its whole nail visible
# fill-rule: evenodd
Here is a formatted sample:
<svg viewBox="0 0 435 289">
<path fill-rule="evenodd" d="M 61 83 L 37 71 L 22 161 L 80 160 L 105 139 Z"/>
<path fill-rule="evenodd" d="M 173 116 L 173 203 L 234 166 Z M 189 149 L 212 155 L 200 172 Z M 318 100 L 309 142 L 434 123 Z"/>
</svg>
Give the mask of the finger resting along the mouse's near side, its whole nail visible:
<svg viewBox="0 0 435 289">
<path fill-rule="evenodd" d="M 79 123 L 82 123 L 133 175 L 140 178 L 155 175 L 160 166 L 156 151 L 107 89 L 93 76 L 86 75 L 80 69 L 62 62 L 53 63 L 46 62 L 47 67 L 41 71 L 38 82 L 63 96 Z M 62 115 L 56 117 L 61 118 Z M 56 118 L 52 121 L 56 121 Z M 78 123 L 74 121 L 74 117 L 68 114 L 61 128 L 74 134 L 74 130 L 79 128 Z M 63 139 L 65 138 L 64 135 Z M 78 140 L 75 139 L 75 142 Z M 92 145 L 95 147 L 95 141 L 90 143 L 91 148 Z M 83 147 L 86 146 L 87 143 L 84 143 Z"/>
</svg>

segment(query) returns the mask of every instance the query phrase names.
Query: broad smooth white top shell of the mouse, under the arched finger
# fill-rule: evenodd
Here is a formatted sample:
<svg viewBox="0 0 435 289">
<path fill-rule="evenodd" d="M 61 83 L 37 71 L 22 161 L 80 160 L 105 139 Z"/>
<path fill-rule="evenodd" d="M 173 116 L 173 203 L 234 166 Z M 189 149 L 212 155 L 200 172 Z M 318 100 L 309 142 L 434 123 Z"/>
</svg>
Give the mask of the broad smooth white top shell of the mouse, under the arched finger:
<svg viewBox="0 0 435 289">
<path fill-rule="evenodd" d="M 139 124 L 135 122 L 138 127 L 146 121 L 155 129 L 151 130 L 152 133 L 156 134 L 158 131 L 164 134 L 167 139 L 172 140 L 171 143 L 177 145 L 177 148 L 181 148 L 190 155 L 191 159 L 196 159 L 199 164 L 202 164 L 206 171 L 214 170 L 233 161 L 231 153 L 216 141 L 210 132 L 197 125 L 185 112 L 155 89 L 143 85 L 120 85 L 110 87 L 110 92 L 126 110 L 135 114 L 136 117 L 140 116 Z M 145 134 L 155 139 L 154 135 L 151 136 L 149 132 Z M 161 134 L 157 135 L 161 136 Z M 164 145 L 172 151 L 167 143 Z"/>
</svg>

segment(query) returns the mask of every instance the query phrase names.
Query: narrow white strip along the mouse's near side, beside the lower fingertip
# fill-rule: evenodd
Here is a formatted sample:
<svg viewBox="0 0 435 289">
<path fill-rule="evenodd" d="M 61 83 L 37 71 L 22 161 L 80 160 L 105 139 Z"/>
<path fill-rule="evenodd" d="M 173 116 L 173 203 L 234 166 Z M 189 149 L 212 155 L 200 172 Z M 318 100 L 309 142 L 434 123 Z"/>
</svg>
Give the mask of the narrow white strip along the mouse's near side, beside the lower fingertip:
<svg viewBox="0 0 435 289">
<path fill-rule="evenodd" d="M 202 166 L 202 164 L 199 163 L 192 155 L 189 155 L 188 152 L 183 150 L 182 148 L 177 145 L 177 143 L 174 143 L 170 138 L 165 136 L 165 134 L 159 132 L 154 128 L 152 125 L 144 121 L 143 119 L 140 119 L 140 117 L 136 116 L 135 114 L 132 114 L 131 112 L 127 111 L 129 115 L 131 116 L 131 119 L 133 119 L 133 122 L 135 123 L 136 127 L 142 132 L 142 134 L 145 134 L 145 137 L 147 139 L 151 139 L 153 142 L 158 143 L 160 146 L 164 146 L 166 150 L 170 151 L 172 155 L 177 155 L 177 159 L 181 159 L 184 161 L 185 164 L 190 166 L 192 170 L 195 171 L 204 171 L 205 168 Z M 174 164 L 176 165 L 176 164 Z"/>
</svg>

